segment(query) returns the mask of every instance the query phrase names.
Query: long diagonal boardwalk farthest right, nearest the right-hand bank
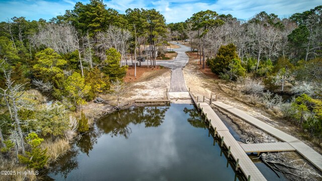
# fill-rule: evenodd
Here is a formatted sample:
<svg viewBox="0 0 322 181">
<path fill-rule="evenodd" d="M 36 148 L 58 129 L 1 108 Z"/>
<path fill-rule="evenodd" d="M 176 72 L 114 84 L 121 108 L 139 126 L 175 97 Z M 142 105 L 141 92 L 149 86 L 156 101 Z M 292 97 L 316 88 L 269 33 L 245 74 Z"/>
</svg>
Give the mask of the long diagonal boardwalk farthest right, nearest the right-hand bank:
<svg viewBox="0 0 322 181">
<path fill-rule="evenodd" d="M 316 168 L 318 168 L 320 171 L 322 171 L 322 155 L 314 151 L 311 147 L 307 146 L 302 141 L 296 139 L 295 137 L 284 133 L 264 122 L 261 120 L 247 114 L 246 112 L 237 109 L 235 107 L 229 106 L 227 104 L 224 104 L 220 101 L 214 101 L 212 102 L 215 106 L 220 107 L 235 116 L 245 120 L 249 124 L 267 132 L 268 134 L 276 137 L 277 139 L 284 141 L 288 143 L 291 147 L 295 149 L 296 152 L 298 152 L 300 155 L 302 155 L 305 159 L 307 159 L 309 162 L 311 162 Z M 243 145 L 244 146 L 244 145 Z M 242 147 L 243 147 L 242 146 Z M 251 146 L 250 146 L 251 147 Z M 250 148 L 251 149 L 251 148 Z M 270 149 L 273 149 L 270 148 Z M 282 150 L 281 150 L 282 151 Z"/>
</svg>

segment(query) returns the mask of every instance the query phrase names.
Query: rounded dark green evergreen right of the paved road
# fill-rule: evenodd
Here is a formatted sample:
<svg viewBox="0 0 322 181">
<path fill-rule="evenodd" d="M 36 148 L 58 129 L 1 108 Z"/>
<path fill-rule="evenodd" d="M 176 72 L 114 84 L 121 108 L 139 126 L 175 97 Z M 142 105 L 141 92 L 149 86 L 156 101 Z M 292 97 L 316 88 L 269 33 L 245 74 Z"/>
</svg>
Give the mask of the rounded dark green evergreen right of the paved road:
<svg viewBox="0 0 322 181">
<path fill-rule="evenodd" d="M 210 59 L 208 65 L 213 73 L 220 75 L 229 70 L 229 64 L 232 59 L 238 59 L 236 46 L 232 43 L 220 46 L 217 56 Z"/>
</svg>

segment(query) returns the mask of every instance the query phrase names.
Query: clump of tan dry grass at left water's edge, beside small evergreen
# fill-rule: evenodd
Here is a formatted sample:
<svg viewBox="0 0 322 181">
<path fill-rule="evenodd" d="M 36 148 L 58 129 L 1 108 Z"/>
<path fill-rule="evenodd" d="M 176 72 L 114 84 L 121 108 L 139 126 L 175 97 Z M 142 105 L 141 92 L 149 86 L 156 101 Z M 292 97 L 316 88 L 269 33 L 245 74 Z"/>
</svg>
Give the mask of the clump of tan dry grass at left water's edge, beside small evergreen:
<svg viewBox="0 0 322 181">
<path fill-rule="evenodd" d="M 70 149 L 69 141 L 67 139 L 58 139 L 57 141 L 46 140 L 41 144 L 43 149 L 47 148 L 47 155 L 49 156 L 48 163 L 57 161 L 57 159 Z"/>
</svg>

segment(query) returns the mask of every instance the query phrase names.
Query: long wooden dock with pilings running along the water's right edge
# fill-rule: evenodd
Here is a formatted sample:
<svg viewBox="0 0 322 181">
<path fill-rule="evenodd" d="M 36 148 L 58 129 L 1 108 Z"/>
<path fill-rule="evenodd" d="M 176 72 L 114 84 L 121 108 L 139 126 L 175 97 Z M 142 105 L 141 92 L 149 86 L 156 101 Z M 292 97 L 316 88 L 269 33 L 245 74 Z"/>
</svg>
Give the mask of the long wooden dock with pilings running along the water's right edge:
<svg viewBox="0 0 322 181">
<path fill-rule="evenodd" d="M 221 139 L 221 146 L 225 146 L 229 149 L 228 155 L 231 155 L 236 162 L 236 169 L 240 169 L 249 180 L 266 180 L 264 175 L 248 157 L 244 149 L 241 148 L 238 142 L 229 133 L 228 128 L 223 124 L 210 105 L 205 102 L 196 102 L 192 95 L 191 97 L 198 106 L 199 110 L 202 111 L 202 114 L 205 115 L 209 122 L 209 127 L 212 127 L 214 130 L 214 136 L 217 136 Z"/>
</svg>

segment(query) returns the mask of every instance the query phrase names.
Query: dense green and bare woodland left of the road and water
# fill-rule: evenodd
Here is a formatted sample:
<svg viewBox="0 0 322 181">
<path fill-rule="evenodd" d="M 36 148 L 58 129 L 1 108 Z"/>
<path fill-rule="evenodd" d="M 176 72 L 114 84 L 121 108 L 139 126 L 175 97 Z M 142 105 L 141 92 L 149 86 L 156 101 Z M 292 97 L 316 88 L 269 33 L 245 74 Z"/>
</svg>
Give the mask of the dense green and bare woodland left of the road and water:
<svg viewBox="0 0 322 181">
<path fill-rule="evenodd" d="M 167 33 L 166 20 L 156 10 L 119 14 L 102 0 L 78 2 L 49 22 L 25 17 L 1 22 L 0 159 L 16 158 L 36 169 L 54 161 L 47 156 L 52 149 L 41 142 L 68 143 L 87 132 L 82 105 L 100 93 L 115 92 L 122 86 L 128 55 L 136 60 L 141 45 L 156 51 L 167 44 Z M 148 56 L 155 66 L 154 53 Z"/>
</svg>

